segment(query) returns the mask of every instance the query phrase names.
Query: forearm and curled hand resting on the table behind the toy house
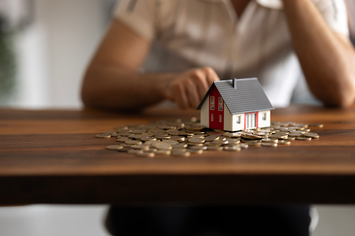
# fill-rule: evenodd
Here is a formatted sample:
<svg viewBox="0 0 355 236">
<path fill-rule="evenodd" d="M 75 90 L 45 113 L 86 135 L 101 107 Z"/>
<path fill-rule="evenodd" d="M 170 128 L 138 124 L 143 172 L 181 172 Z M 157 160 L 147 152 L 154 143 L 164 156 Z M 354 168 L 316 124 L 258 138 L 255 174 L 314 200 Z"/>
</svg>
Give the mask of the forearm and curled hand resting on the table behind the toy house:
<svg viewBox="0 0 355 236">
<path fill-rule="evenodd" d="M 139 74 L 119 65 L 93 63 L 86 72 L 82 100 L 86 107 L 139 111 L 163 100 L 195 109 L 213 81 L 209 67 L 179 73 Z"/>
</svg>

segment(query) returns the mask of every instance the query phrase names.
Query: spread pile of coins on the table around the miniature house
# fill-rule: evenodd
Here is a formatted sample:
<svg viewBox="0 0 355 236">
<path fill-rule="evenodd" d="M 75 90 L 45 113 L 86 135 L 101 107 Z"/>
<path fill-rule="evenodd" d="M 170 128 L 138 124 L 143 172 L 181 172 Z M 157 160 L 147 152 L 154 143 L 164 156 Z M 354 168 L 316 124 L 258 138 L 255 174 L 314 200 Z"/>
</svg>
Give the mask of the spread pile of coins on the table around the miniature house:
<svg viewBox="0 0 355 236">
<path fill-rule="evenodd" d="M 115 138 L 118 143 L 107 146 L 107 150 L 127 152 L 138 157 L 156 155 L 188 157 L 206 150 L 239 152 L 242 148 L 250 146 L 276 147 L 289 145 L 293 140 L 318 139 L 319 135 L 310 132 L 310 127 L 323 125 L 273 122 L 267 128 L 226 132 L 208 129 L 201 126 L 197 118 L 191 118 L 114 127 L 114 131 L 96 134 L 96 138 Z"/>
</svg>

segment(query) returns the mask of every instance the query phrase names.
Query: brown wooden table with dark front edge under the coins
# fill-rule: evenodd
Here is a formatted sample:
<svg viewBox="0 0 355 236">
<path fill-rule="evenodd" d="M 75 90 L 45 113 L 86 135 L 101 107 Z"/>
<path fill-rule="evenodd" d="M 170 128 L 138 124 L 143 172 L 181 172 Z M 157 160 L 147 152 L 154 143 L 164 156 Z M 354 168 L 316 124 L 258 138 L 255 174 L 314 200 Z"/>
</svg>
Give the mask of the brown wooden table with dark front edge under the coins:
<svg viewBox="0 0 355 236">
<path fill-rule="evenodd" d="M 116 125 L 199 116 L 196 111 L 0 109 L 0 205 L 27 203 L 355 203 L 355 107 L 295 106 L 272 120 L 324 123 L 312 141 L 208 151 L 189 158 L 105 150 Z"/>
</svg>

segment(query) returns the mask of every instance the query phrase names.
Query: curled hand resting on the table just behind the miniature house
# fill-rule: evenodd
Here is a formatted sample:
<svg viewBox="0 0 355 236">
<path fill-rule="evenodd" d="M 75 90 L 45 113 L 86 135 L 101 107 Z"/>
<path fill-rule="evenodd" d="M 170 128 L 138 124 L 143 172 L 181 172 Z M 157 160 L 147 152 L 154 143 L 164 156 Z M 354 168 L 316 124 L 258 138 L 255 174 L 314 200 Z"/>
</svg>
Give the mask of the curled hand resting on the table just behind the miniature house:
<svg viewBox="0 0 355 236">
<path fill-rule="evenodd" d="M 195 68 L 176 74 L 167 84 L 167 98 L 183 109 L 196 109 L 213 81 L 220 80 L 209 67 Z"/>
</svg>

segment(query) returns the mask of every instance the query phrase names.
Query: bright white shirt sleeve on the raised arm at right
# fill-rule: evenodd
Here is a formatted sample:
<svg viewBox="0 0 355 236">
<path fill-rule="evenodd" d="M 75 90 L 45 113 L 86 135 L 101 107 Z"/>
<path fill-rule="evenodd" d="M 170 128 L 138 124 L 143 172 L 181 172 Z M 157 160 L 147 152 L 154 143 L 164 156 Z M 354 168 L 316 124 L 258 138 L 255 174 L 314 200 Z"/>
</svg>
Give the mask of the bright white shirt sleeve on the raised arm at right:
<svg viewBox="0 0 355 236">
<path fill-rule="evenodd" d="M 320 13 L 333 31 L 349 36 L 347 8 L 343 0 L 314 0 Z"/>
</svg>

